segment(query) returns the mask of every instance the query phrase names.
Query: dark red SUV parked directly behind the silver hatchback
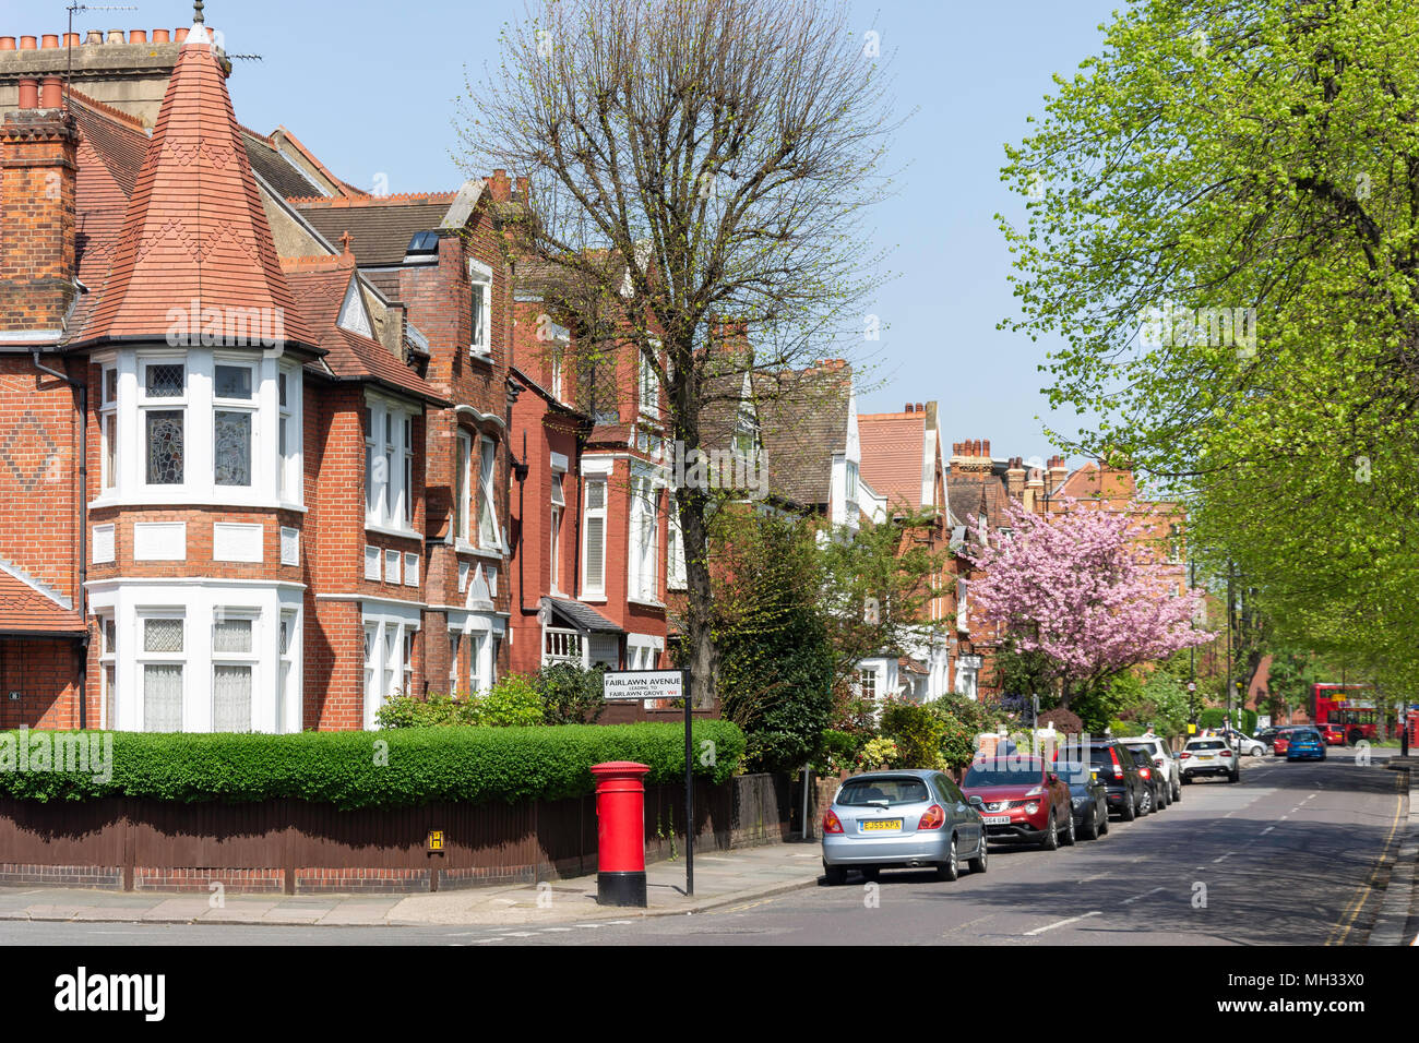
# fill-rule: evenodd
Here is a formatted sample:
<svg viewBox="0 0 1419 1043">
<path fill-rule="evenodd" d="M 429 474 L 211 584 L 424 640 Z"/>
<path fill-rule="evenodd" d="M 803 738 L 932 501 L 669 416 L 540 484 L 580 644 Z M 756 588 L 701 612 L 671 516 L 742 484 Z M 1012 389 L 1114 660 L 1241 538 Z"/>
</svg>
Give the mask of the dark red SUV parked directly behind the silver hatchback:
<svg viewBox="0 0 1419 1043">
<path fill-rule="evenodd" d="M 961 792 L 981 812 L 990 840 L 1036 843 L 1046 851 L 1074 843 L 1069 785 L 1037 756 L 976 761 Z"/>
</svg>

